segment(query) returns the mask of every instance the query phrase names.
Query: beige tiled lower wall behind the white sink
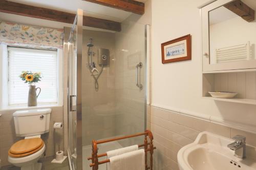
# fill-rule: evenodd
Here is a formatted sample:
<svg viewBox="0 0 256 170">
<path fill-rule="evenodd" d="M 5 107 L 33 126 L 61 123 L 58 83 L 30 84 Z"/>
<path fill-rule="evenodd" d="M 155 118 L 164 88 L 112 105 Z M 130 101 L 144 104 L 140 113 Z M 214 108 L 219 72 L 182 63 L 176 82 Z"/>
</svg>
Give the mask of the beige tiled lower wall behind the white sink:
<svg viewBox="0 0 256 170">
<path fill-rule="evenodd" d="M 197 118 L 188 117 L 159 108 L 151 108 L 151 130 L 157 150 L 154 153 L 154 169 L 178 170 L 177 153 L 193 142 L 202 131 L 208 131 L 231 138 L 246 137 L 246 143 L 256 147 L 256 135 L 228 128 Z"/>
</svg>

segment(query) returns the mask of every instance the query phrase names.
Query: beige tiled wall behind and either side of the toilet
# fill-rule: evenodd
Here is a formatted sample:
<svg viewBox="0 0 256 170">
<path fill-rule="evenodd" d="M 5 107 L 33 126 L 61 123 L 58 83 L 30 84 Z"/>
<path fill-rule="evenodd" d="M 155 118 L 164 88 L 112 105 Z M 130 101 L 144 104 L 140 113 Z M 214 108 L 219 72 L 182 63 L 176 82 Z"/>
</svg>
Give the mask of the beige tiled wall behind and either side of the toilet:
<svg viewBox="0 0 256 170">
<path fill-rule="evenodd" d="M 19 139 L 20 137 L 16 137 L 14 121 L 12 117 L 12 113 L 15 110 L 7 110 L 0 111 L 2 116 L 0 117 L 0 159 L 2 161 L 1 165 L 9 165 L 8 162 L 8 150 L 11 145 Z M 46 143 L 46 156 L 53 156 L 53 122 L 62 122 L 63 121 L 63 108 L 62 107 L 52 107 L 52 113 L 50 118 L 50 132 L 42 135 L 42 139 L 44 139 Z M 60 149 L 62 150 L 63 140 L 62 140 L 62 130 L 56 130 L 56 138 L 57 142 L 60 143 Z"/>
</svg>

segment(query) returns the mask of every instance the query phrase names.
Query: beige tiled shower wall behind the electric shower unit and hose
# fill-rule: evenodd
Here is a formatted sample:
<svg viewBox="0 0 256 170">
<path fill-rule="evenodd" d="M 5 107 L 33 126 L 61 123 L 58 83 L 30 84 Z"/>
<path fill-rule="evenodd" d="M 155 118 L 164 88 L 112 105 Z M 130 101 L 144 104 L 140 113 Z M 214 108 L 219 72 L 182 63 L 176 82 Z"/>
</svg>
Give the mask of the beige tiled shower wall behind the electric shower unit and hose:
<svg viewBox="0 0 256 170">
<path fill-rule="evenodd" d="M 98 49 L 110 51 L 110 63 L 105 65 L 98 79 L 98 91 L 95 90 L 95 80 L 91 76 L 88 64 L 88 47 L 93 38 L 93 62 L 100 71 L 98 64 Z M 82 67 L 82 137 L 83 145 L 89 145 L 92 139 L 98 140 L 115 135 L 115 37 L 114 33 L 101 31 L 83 31 L 83 60 Z M 96 76 L 97 77 L 97 76 Z"/>
</svg>

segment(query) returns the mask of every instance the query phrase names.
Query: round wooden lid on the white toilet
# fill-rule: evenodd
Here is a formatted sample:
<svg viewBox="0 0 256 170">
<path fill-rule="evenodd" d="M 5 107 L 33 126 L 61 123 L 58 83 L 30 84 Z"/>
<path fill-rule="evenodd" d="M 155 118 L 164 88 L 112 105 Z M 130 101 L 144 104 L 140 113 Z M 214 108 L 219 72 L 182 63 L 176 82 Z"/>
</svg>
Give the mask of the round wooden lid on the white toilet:
<svg viewBox="0 0 256 170">
<path fill-rule="evenodd" d="M 22 139 L 12 145 L 9 150 L 9 155 L 31 155 L 44 146 L 44 141 L 41 138 Z M 37 151 L 36 151 L 37 150 Z"/>
</svg>

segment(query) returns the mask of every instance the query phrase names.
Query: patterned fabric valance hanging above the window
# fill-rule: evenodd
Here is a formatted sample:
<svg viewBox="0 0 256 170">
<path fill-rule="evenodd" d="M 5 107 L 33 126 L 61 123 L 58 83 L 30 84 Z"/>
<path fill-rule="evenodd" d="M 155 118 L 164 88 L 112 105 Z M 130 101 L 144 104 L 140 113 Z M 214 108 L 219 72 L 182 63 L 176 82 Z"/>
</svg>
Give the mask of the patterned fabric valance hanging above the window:
<svg viewBox="0 0 256 170">
<path fill-rule="evenodd" d="M 0 43 L 63 48 L 63 30 L 0 21 Z"/>
</svg>

